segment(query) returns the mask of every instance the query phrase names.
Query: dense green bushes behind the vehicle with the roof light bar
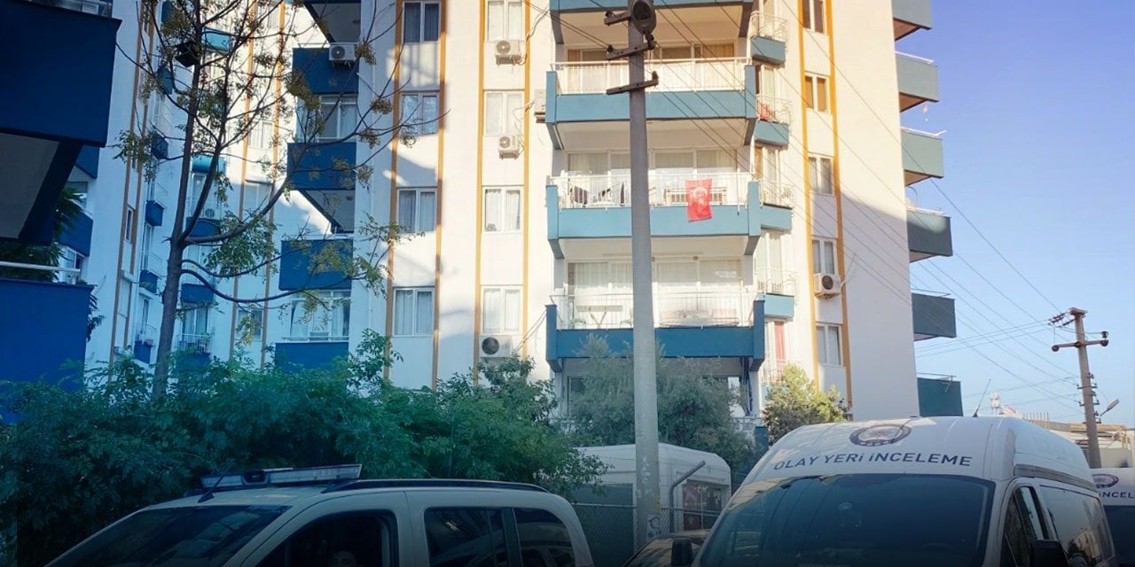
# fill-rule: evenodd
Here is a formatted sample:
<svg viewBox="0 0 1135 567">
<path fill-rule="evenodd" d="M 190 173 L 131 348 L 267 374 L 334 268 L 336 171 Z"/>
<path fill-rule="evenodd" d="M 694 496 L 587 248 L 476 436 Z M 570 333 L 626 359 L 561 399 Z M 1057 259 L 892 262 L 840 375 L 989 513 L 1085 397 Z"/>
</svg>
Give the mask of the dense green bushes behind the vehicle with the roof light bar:
<svg viewBox="0 0 1135 567">
<path fill-rule="evenodd" d="M 602 472 L 549 422 L 549 386 L 529 381 L 530 361 L 435 392 L 384 382 L 396 359 L 369 333 L 330 369 L 175 367 L 160 398 L 124 358 L 78 389 L 9 384 L 3 407 L 20 421 L 0 425 L 0 510 L 16 526 L 0 524 L 0 557 L 15 557 L 18 535 L 18 564 L 43 565 L 208 472 L 361 463 L 368 477 L 535 482 L 560 493 Z"/>
</svg>

